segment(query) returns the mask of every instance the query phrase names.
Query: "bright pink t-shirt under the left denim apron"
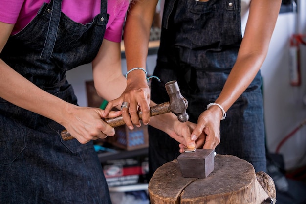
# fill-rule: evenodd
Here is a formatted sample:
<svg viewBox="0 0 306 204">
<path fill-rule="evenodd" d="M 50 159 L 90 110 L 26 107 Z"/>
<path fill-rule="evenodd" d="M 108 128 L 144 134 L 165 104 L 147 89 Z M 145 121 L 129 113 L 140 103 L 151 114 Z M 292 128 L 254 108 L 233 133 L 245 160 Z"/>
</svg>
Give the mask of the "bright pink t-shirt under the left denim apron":
<svg viewBox="0 0 306 204">
<path fill-rule="evenodd" d="M 36 16 L 43 3 L 50 0 L 0 0 L 0 21 L 15 24 L 12 35 L 22 30 Z M 75 22 L 90 23 L 100 13 L 101 0 L 63 0 L 62 12 Z M 129 0 L 108 0 L 109 21 L 104 38 L 120 42 Z"/>
</svg>

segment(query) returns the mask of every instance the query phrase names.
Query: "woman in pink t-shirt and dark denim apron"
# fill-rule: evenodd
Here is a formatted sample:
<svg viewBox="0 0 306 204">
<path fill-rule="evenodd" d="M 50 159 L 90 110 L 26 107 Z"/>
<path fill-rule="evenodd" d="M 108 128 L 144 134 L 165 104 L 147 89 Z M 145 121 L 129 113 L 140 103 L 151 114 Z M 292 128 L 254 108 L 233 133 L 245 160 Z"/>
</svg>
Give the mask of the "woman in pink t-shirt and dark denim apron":
<svg viewBox="0 0 306 204">
<path fill-rule="evenodd" d="M 101 118 L 121 113 L 77 106 L 66 71 L 92 62 L 103 98 L 116 99 L 123 91 L 132 97 L 120 58 L 128 0 L 0 0 L 0 5 L 0 203 L 110 204 L 92 140 L 113 136 Z M 151 121 L 183 143 L 179 135 L 189 136 L 195 124 L 175 117 L 160 117 L 162 125 Z M 76 139 L 64 141 L 64 129 Z"/>
</svg>

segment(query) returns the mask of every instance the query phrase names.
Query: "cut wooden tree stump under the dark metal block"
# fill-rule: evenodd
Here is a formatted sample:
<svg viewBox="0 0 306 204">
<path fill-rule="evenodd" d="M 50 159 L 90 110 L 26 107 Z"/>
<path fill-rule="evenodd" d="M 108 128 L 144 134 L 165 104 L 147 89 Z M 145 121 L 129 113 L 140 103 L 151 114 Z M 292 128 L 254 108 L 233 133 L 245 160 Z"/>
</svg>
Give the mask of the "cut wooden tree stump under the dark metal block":
<svg viewBox="0 0 306 204">
<path fill-rule="evenodd" d="M 261 204 L 268 197 L 275 201 L 276 193 L 266 173 L 255 174 L 238 157 L 216 155 L 207 178 L 182 177 L 176 159 L 159 167 L 149 182 L 149 196 L 151 204 Z"/>
</svg>

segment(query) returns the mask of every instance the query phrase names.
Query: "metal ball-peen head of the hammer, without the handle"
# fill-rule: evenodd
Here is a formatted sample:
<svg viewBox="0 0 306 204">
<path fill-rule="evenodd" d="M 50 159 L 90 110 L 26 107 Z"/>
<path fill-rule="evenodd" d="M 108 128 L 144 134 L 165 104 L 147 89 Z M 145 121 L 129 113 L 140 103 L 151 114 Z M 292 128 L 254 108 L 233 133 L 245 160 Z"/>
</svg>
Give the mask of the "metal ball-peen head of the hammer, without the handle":
<svg viewBox="0 0 306 204">
<path fill-rule="evenodd" d="M 186 110 L 188 107 L 187 100 L 182 96 L 176 81 L 170 81 L 165 84 L 166 91 L 170 97 L 170 110 L 177 115 L 180 122 L 186 122 L 189 115 Z"/>
</svg>

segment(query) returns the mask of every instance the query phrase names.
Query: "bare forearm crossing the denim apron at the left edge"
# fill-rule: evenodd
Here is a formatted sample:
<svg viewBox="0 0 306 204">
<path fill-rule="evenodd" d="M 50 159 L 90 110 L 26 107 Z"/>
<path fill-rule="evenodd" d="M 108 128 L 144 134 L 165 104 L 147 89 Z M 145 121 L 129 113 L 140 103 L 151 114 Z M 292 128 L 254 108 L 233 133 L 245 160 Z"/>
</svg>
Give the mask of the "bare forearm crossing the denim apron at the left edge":
<svg viewBox="0 0 306 204">
<path fill-rule="evenodd" d="M 38 88 L 0 60 L 0 97 L 29 111 L 58 123 L 75 105 Z"/>
</svg>

